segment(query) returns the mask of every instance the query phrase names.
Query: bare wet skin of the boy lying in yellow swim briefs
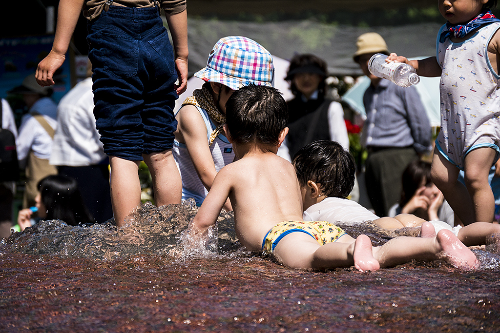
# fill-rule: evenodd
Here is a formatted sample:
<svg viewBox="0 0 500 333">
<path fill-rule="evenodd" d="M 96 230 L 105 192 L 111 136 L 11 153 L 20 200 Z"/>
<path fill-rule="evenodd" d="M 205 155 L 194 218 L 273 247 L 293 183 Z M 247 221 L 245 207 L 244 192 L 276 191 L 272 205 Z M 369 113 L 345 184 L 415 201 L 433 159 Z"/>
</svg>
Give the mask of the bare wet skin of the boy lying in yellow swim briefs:
<svg viewBox="0 0 500 333">
<path fill-rule="evenodd" d="M 241 88 L 233 97 L 243 94 L 243 89 L 254 94 L 259 88 Z M 285 105 L 284 100 L 282 102 Z M 253 105 L 246 107 L 251 109 Z M 267 117 L 273 121 L 281 120 Z M 248 250 L 260 251 L 267 232 L 277 224 L 303 221 L 303 193 L 295 170 L 291 163 L 276 155 L 288 128 L 279 132 L 275 143 L 262 143 L 258 139 L 239 142 L 231 136 L 228 124 L 224 125 L 224 130 L 238 160 L 224 166 L 215 176 L 212 188 L 188 229 L 191 246 L 199 246 L 203 239 L 206 240 L 208 228 L 217 222 L 222 206 L 230 198 L 239 241 Z M 366 235 L 354 239 L 340 233 L 335 242 L 324 245 L 302 232 L 283 233 L 281 236 L 272 253 L 290 268 L 354 266 L 360 272 L 376 271 L 411 258 L 433 260 L 443 254 L 443 259 L 457 267 L 472 269 L 476 265 L 474 254 L 448 230 L 441 230 L 434 238 L 398 237 L 375 248 Z"/>
</svg>

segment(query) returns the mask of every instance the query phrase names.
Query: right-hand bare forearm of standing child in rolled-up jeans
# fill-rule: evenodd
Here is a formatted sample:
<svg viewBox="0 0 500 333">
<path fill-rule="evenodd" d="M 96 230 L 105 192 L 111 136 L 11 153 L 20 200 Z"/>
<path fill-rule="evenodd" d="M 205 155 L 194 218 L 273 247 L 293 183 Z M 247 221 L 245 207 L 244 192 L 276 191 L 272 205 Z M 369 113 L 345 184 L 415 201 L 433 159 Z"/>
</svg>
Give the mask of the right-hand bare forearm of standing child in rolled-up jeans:
<svg viewBox="0 0 500 333">
<path fill-rule="evenodd" d="M 172 36 L 175 69 L 178 75 L 177 94 L 180 95 L 187 88 L 187 10 L 168 14 L 165 12 L 168 29 Z"/>
</svg>

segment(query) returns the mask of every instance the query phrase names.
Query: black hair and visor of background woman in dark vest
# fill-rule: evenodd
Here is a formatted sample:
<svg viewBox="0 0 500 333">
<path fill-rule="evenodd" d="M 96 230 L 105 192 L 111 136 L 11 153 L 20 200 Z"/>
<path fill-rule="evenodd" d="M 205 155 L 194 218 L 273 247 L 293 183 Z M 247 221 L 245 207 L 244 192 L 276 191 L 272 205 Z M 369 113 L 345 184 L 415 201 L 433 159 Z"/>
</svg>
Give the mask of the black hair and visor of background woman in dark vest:
<svg viewBox="0 0 500 333">
<path fill-rule="evenodd" d="M 328 72 L 326 61 L 315 56 L 314 54 L 295 54 L 291 58 L 285 80 L 290 81 L 290 90 L 294 96 L 299 95 L 300 91 L 298 91 L 295 83 L 293 83 L 293 76 L 300 72 L 316 73 L 323 77 L 323 79 L 319 82 L 317 90 L 319 96 L 324 97 L 326 85 L 325 78 Z"/>
</svg>

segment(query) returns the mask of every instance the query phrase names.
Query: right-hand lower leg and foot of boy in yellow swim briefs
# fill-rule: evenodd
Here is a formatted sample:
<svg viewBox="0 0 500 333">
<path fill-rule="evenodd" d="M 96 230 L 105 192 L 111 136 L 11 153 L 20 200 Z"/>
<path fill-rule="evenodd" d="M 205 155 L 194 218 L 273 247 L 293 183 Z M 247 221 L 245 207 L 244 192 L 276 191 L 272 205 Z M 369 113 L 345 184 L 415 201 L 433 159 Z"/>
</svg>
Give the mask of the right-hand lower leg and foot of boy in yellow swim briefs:
<svg viewBox="0 0 500 333">
<path fill-rule="evenodd" d="M 477 262 L 474 254 L 449 230 L 439 231 L 435 238 L 393 238 L 373 248 L 373 257 L 380 267 L 395 266 L 412 259 L 443 259 L 455 267 L 471 269 Z"/>
</svg>

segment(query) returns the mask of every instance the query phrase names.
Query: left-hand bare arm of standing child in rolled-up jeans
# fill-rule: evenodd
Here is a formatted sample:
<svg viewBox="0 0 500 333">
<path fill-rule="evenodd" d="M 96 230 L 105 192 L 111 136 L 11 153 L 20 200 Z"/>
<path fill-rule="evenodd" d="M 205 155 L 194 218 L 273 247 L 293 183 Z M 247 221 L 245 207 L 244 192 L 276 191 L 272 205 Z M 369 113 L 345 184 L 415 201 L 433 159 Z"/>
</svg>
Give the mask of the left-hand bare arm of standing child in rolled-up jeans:
<svg viewBox="0 0 500 333">
<path fill-rule="evenodd" d="M 36 68 L 36 82 L 42 87 L 53 85 L 54 72 L 64 62 L 71 36 L 83 7 L 84 0 L 60 0 L 57 7 L 57 26 L 55 27 L 54 42 L 48 55 L 38 63 Z"/>
</svg>

